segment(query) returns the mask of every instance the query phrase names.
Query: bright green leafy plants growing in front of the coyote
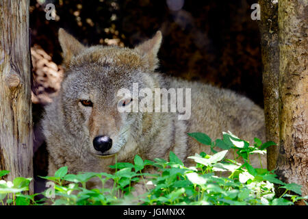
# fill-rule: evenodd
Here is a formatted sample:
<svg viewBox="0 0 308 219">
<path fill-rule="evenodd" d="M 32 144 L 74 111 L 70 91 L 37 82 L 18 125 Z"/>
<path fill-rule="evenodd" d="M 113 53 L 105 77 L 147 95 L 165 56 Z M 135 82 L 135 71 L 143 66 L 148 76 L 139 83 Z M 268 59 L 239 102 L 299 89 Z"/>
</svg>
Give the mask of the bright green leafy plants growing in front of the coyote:
<svg viewBox="0 0 308 219">
<path fill-rule="evenodd" d="M 49 198 L 40 201 L 34 200 L 38 194 L 31 196 L 23 194 L 29 188 L 30 178 L 17 177 L 13 182 L 1 180 L 1 203 L 2 205 L 47 205 L 47 203 L 52 205 L 293 205 L 300 199 L 308 198 L 301 196 L 300 185 L 284 183 L 272 172 L 251 166 L 249 157 L 253 153 L 266 153 L 266 148 L 275 145 L 274 142 L 262 144 L 255 138 L 255 144 L 251 146 L 232 133 L 223 133 L 222 140 L 214 142 L 204 133 L 188 133 L 188 135 L 202 144 L 209 145 L 214 154 L 201 153 L 188 157 L 195 163 L 195 166 L 190 167 L 185 166 L 172 152 L 169 161 L 162 158 L 154 161 L 143 160 L 136 155 L 133 164 L 117 162 L 114 166 L 110 166 L 114 169 L 114 174 L 82 172 L 73 175 L 68 174 L 68 168 L 64 166 L 57 170 L 54 176 L 42 177 L 54 183 L 55 197 L 49 188 L 42 192 Z M 219 152 L 216 151 L 218 148 Z M 235 160 L 224 158 L 229 150 L 233 151 Z M 242 158 L 243 164 L 237 162 L 239 158 Z M 6 170 L 0 171 L 0 177 L 7 174 Z M 101 188 L 88 189 L 87 182 L 94 179 L 101 181 Z M 274 183 L 285 189 L 280 197 L 274 196 Z M 138 185 L 145 190 L 142 194 L 138 194 L 136 189 Z"/>
</svg>

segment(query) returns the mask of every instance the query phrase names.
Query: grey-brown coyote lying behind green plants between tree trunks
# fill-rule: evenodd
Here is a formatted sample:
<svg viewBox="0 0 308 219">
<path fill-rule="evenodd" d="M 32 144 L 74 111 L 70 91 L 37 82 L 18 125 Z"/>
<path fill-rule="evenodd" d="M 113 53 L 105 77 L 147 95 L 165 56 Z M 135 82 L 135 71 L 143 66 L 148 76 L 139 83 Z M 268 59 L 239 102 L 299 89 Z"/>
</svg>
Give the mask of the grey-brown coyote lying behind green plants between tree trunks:
<svg viewBox="0 0 308 219">
<path fill-rule="evenodd" d="M 116 160 L 132 162 L 135 155 L 168 159 L 170 151 L 189 165 L 188 156 L 211 153 L 209 146 L 188 136 L 192 132 L 216 139 L 229 130 L 250 142 L 254 137 L 265 140 L 264 110 L 245 96 L 155 72 L 160 31 L 133 49 L 86 47 L 64 29 L 59 30 L 59 40 L 66 73 L 59 95 L 47 105 L 43 118 L 49 175 L 61 166 L 68 166 L 71 173 L 110 172 Z M 138 90 L 153 93 L 155 88 L 191 89 L 191 95 L 185 96 L 191 102 L 189 118 L 179 119 L 178 110 L 120 112 L 142 101 L 140 95 L 136 99 L 117 96 L 120 89 L 131 90 L 134 83 Z M 259 157 L 252 157 L 251 162 L 258 166 Z M 262 162 L 266 166 L 266 157 Z"/>
</svg>

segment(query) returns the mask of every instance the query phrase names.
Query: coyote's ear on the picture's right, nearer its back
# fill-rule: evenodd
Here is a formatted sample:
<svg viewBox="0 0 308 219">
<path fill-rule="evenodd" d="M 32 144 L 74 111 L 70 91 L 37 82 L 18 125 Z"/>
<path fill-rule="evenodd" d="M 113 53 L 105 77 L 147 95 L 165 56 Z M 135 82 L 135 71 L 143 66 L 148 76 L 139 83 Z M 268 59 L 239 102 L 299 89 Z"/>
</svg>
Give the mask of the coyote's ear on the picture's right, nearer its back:
<svg viewBox="0 0 308 219">
<path fill-rule="evenodd" d="M 142 44 L 135 47 L 135 50 L 142 55 L 142 58 L 149 64 L 151 70 L 157 68 L 158 59 L 157 53 L 159 51 L 160 44 L 162 43 L 162 32 L 157 31 L 155 36 L 150 40 L 142 42 Z"/>
</svg>

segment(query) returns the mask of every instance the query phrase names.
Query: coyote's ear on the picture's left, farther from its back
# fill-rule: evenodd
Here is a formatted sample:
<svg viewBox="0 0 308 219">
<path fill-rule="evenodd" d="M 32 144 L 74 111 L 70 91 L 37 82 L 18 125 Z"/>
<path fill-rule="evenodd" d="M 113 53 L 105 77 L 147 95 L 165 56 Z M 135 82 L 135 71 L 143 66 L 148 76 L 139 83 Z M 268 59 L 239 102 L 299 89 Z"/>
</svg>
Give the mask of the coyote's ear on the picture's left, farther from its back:
<svg viewBox="0 0 308 219">
<path fill-rule="evenodd" d="M 66 33 L 66 31 L 62 28 L 59 29 L 59 42 L 62 47 L 64 64 L 66 66 L 70 64 L 72 57 L 78 55 L 78 53 L 85 49 L 83 44 L 81 44 L 70 34 Z"/>
</svg>

